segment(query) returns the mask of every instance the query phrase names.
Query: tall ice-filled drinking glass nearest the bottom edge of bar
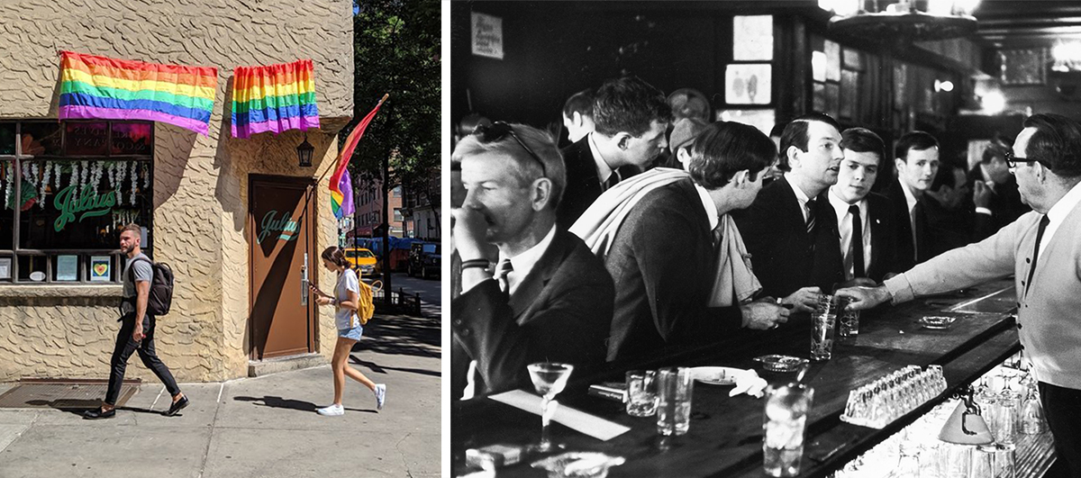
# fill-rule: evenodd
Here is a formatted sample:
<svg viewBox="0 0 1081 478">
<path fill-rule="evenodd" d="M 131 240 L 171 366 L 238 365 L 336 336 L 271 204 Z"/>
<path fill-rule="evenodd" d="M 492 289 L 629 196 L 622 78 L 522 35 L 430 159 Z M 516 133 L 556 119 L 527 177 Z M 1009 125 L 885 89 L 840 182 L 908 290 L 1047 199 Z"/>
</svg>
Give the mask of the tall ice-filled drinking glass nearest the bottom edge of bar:
<svg viewBox="0 0 1081 478">
<path fill-rule="evenodd" d="M 814 388 L 795 383 L 770 385 L 765 396 L 762 467 L 773 477 L 797 476 L 803 459 L 803 435 Z"/>
</svg>

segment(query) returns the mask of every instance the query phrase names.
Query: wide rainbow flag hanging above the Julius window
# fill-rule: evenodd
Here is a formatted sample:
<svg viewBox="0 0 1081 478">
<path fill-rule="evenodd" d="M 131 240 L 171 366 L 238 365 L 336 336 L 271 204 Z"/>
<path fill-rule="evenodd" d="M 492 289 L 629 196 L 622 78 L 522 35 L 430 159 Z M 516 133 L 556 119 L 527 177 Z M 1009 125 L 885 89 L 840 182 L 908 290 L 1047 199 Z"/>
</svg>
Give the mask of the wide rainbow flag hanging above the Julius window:
<svg viewBox="0 0 1081 478">
<path fill-rule="evenodd" d="M 61 52 L 59 119 L 139 119 L 206 134 L 217 68 Z"/>
</svg>

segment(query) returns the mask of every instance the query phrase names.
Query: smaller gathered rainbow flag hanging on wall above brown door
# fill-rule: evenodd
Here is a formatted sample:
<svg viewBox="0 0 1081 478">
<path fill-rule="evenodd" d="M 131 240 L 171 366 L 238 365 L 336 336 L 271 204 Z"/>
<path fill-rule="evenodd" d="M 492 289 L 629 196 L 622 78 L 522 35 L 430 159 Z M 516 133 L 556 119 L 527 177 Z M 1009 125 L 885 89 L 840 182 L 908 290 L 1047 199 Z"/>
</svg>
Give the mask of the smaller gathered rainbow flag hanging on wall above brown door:
<svg viewBox="0 0 1081 478">
<path fill-rule="evenodd" d="M 232 137 L 319 128 L 310 59 L 232 71 Z"/>
</svg>

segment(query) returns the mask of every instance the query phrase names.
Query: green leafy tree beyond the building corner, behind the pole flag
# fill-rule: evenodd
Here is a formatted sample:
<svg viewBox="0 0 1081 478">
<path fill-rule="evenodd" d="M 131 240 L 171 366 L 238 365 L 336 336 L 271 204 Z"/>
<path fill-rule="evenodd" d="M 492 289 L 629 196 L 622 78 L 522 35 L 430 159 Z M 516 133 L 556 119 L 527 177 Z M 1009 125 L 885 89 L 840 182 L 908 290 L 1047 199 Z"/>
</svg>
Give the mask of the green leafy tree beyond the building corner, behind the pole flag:
<svg viewBox="0 0 1081 478">
<path fill-rule="evenodd" d="M 353 124 L 384 93 L 390 94 L 353 152 L 350 170 L 357 189 L 382 178 L 387 160 L 388 189 L 402 185 L 427 195 L 438 205 L 440 4 L 437 0 L 368 0 L 357 1 L 353 11 Z M 436 181 L 429 181 L 432 177 Z M 428 183 L 435 184 L 435 190 L 428 190 Z"/>
</svg>

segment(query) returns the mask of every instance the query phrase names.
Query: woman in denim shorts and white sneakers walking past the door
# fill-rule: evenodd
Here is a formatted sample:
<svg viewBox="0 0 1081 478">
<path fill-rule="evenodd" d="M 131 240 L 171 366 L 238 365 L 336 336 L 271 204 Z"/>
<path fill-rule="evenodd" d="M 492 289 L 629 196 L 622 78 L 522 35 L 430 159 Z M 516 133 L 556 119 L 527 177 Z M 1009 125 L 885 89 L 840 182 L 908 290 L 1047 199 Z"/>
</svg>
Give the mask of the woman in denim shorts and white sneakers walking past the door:
<svg viewBox="0 0 1081 478">
<path fill-rule="evenodd" d="M 357 273 L 349 267 L 349 261 L 345 258 L 342 248 L 334 245 L 326 248 L 323 250 L 321 257 L 323 266 L 328 270 L 337 273 L 337 286 L 334 288 L 333 296 L 316 289 L 315 286 L 311 287 L 311 291 L 319 294 L 316 297 L 317 304 L 333 305 L 335 307 L 334 321 L 337 324 L 338 340 L 334 346 L 334 356 L 331 358 L 331 368 L 334 370 L 334 403 L 321 408 L 317 412 L 324 416 L 345 414 L 345 408 L 342 407 L 342 393 L 345 389 L 346 375 L 364 384 L 365 387 L 375 393 L 375 408 L 383 410 L 387 386 L 375 384 L 364 376 L 364 374 L 360 373 L 360 371 L 346 363 L 349 360 L 349 351 L 352 350 L 352 344 L 356 344 L 360 340 L 361 333 L 364 332 L 364 328 L 360 323 L 360 317 L 357 315 L 357 309 L 360 305 L 360 280 L 357 278 Z"/>
</svg>

